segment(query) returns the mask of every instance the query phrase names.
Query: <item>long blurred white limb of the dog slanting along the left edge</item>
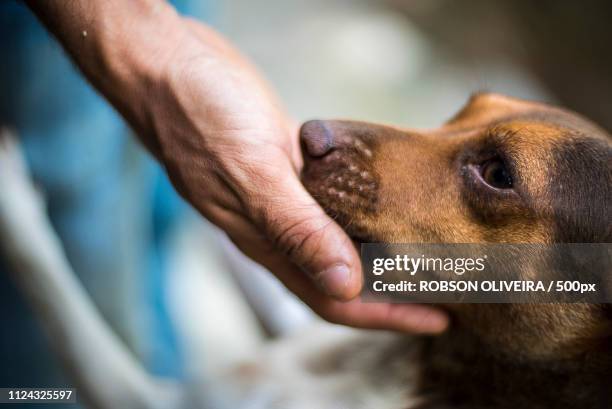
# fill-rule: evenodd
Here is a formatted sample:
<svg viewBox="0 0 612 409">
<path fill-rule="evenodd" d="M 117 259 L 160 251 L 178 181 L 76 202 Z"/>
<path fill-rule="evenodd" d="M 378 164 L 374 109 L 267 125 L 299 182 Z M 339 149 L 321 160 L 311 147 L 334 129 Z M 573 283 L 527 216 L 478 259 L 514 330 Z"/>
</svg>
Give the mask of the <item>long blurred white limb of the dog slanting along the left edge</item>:
<svg viewBox="0 0 612 409">
<path fill-rule="evenodd" d="M 96 408 L 173 409 L 178 385 L 146 373 L 76 278 L 34 189 L 17 140 L 0 128 L 0 250 L 48 342 Z"/>
</svg>

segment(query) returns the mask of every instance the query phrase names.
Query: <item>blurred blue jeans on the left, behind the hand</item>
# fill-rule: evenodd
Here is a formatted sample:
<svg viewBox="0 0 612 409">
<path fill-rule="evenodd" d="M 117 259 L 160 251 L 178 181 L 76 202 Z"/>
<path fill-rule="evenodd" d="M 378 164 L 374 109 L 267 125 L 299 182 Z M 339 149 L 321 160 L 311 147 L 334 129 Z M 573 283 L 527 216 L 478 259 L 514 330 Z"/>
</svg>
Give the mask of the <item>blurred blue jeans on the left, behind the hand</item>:
<svg viewBox="0 0 612 409">
<path fill-rule="evenodd" d="M 18 134 L 74 270 L 152 372 L 181 376 L 162 289 L 165 237 L 186 206 L 21 2 L 0 2 L 0 55 L 0 125 Z M 8 268 L 0 257 L 0 387 L 66 386 Z"/>
</svg>

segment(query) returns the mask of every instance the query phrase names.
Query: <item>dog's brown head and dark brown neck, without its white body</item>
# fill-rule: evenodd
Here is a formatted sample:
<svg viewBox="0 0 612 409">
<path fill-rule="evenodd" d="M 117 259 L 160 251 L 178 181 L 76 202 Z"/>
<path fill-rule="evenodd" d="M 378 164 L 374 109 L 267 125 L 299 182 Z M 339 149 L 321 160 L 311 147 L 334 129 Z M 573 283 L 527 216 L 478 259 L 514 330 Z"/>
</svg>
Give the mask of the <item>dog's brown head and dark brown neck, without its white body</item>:
<svg viewBox="0 0 612 409">
<path fill-rule="evenodd" d="M 577 114 L 478 94 L 427 132 L 311 121 L 301 138 L 306 187 L 356 241 L 612 242 L 612 139 Z M 610 311 L 456 305 L 419 349 L 420 407 L 612 407 Z"/>
</svg>

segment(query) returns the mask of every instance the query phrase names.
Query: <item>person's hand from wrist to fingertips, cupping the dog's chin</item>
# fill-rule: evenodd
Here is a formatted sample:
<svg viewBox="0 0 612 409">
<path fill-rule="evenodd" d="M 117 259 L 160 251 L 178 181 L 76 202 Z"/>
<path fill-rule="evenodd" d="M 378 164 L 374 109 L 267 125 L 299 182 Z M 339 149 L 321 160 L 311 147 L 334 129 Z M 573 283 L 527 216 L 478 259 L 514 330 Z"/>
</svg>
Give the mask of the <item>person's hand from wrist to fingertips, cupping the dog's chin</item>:
<svg viewBox="0 0 612 409">
<path fill-rule="evenodd" d="M 162 161 L 181 194 L 323 318 L 443 329 L 446 317 L 425 306 L 342 302 L 361 289 L 359 257 L 299 181 L 296 124 L 220 36 L 186 24 L 193 37 L 171 59 L 152 116 Z"/>
</svg>

